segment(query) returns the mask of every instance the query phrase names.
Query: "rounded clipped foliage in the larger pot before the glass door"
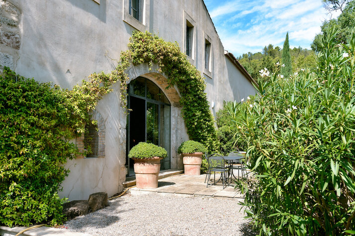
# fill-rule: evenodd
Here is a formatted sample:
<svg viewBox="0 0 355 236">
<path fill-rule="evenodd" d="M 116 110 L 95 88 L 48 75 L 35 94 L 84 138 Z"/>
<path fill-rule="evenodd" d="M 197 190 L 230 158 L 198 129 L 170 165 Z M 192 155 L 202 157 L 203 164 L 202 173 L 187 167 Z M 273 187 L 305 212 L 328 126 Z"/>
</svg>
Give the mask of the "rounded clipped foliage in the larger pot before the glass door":
<svg viewBox="0 0 355 236">
<path fill-rule="evenodd" d="M 135 159 L 153 159 L 153 157 L 165 158 L 167 151 L 153 143 L 140 142 L 130 149 L 128 157 Z"/>
</svg>

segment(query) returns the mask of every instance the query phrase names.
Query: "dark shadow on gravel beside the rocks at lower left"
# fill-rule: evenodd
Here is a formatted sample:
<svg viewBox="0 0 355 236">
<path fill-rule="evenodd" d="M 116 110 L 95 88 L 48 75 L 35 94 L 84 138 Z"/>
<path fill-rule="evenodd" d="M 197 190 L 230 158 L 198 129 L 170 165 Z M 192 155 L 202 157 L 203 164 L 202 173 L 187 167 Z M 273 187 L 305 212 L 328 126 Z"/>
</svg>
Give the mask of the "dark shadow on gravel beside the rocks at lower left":
<svg viewBox="0 0 355 236">
<path fill-rule="evenodd" d="M 69 230 L 80 231 L 83 228 L 94 227 L 94 228 L 105 228 L 119 221 L 119 214 L 123 212 L 128 212 L 134 210 L 115 210 L 112 206 L 120 206 L 122 200 L 117 200 L 114 203 L 109 203 L 109 206 L 100 209 L 96 212 L 91 212 L 87 215 L 76 217 L 70 221 L 67 221 L 64 225 L 69 228 Z M 111 206 L 111 207 L 110 207 Z M 118 208 L 116 208 L 118 209 Z"/>
</svg>

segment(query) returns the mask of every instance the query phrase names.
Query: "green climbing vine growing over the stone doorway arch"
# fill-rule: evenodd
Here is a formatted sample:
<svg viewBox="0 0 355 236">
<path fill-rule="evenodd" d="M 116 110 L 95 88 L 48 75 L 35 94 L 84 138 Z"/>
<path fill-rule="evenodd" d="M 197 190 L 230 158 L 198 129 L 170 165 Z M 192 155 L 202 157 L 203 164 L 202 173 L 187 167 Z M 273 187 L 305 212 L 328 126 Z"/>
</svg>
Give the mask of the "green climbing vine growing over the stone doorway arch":
<svg viewBox="0 0 355 236">
<path fill-rule="evenodd" d="M 139 65 L 149 63 L 159 66 L 159 72 L 167 75 L 168 87 L 177 86 L 181 95 L 180 104 L 183 106 L 183 118 L 190 139 L 204 143 L 209 150 L 216 149 L 217 136 L 214 118 L 209 109 L 205 82 L 201 73 L 191 65 L 186 55 L 181 52 L 175 42 L 166 42 L 157 35 L 149 32 L 135 32 L 128 43 L 128 50 L 121 53 L 120 63 L 110 74 L 92 74 L 89 81 L 83 81 L 83 92 L 91 89 L 109 93 L 110 86 L 120 81 L 121 106 L 126 109 L 128 76 L 124 71 L 130 63 Z M 104 87 L 100 87 L 104 84 Z M 86 89 L 85 86 L 90 85 Z M 98 93 L 103 94 L 103 93 Z M 100 99 L 98 97 L 98 99 Z M 96 104 L 95 104 L 96 105 Z"/>
</svg>

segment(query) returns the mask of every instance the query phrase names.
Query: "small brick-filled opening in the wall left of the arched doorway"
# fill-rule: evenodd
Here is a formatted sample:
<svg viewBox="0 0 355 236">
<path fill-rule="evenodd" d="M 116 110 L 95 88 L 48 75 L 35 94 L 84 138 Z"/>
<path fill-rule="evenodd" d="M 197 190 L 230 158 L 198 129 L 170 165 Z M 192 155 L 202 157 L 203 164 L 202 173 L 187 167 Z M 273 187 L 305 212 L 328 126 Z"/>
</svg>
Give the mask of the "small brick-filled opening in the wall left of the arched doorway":
<svg viewBox="0 0 355 236">
<path fill-rule="evenodd" d="M 97 120 L 97 126 L 87 124 L 88 132 L 76 138 L 76 145 L 79 151 L 83 152 L 87 145 L 91 146 L 92 153 L 87 154 L 88 157 L 103 158 L 105 157 L 105 138 L 106 127 L 105 120 L 99 112 L 92 113 L 92 119 Z M 79 155 L 77 158 L 85 158 L 84 155 Z"/>
</svg>

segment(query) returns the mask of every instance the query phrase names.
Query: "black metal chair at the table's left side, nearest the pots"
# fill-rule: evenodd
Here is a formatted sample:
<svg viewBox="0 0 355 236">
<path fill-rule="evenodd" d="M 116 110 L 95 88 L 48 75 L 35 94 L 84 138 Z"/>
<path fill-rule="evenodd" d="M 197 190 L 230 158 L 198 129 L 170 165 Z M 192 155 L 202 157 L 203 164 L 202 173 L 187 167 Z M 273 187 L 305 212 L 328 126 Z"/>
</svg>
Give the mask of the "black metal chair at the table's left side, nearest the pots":
<svg viewBox="0 0 355 236">
<path fill-rule="evenodd" d="M 206 174 L 205 183 L 207 179 L 207 187 L 209 185 L 214 185 L 218 183 L 222 179 L 223 189 L 224 189 L 228 185 L 228 173 L 229 173 L 230 166 L 226 163 L 225 158 L 221 154 L 214 153 L 208 155 L 206 153 L 206 158 L 208 163 L 208 171 Z M 221 177 L 217 180 L 217 182 L 216 182 L 216 172 L 221 173 Z M 214 183 L 210 184 L 209 182 L 212 173 L 214 174 Z"/>
</svg>

